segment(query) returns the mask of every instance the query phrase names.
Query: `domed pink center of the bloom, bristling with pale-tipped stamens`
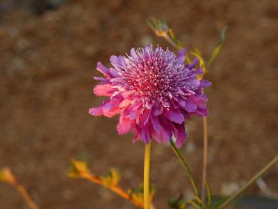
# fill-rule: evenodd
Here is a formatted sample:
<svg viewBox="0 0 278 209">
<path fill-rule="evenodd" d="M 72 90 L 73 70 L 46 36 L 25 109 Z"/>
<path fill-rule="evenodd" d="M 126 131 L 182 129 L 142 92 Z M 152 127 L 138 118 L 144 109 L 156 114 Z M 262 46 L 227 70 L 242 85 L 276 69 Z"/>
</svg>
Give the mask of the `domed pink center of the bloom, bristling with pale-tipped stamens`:
<svg viewBox="0 0 278 209">
<path fill-rule="evenodd" d="M 154 52 L 152 48 L 136 49 L 124 58 L 117 70 L 126 90 L 132 91 L 143 103 L 158 101 L 163 106 L 178 95 L 179 88 L 186 86 L 184 80 L 188 78 L 184 60 L 161 48 Z"/>
</svg>

